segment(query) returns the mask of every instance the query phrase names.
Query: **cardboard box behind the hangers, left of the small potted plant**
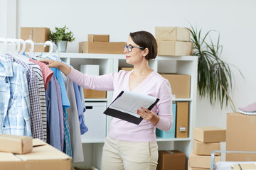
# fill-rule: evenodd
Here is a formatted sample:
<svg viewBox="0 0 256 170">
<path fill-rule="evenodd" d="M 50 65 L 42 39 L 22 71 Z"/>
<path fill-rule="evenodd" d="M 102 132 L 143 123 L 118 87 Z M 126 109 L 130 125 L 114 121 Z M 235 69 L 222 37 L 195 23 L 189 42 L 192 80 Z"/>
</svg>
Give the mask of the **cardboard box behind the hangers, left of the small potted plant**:
<svg viewBox="0 0 256 170">
<path fill-rule="evenodd" d="M 44 27 L 21 27 L 21 39 L 32 40 L 33 42 L 41 43 L 49 40 L 50 28 Z M 42 52 L 43 45 L 35 45 L 34 51 Z M 26 52 L 30 51 L 31 47 L 26 49 Z M 49 46 L 44 48 L 44 52 L 49 51 Z"/>
</svg>

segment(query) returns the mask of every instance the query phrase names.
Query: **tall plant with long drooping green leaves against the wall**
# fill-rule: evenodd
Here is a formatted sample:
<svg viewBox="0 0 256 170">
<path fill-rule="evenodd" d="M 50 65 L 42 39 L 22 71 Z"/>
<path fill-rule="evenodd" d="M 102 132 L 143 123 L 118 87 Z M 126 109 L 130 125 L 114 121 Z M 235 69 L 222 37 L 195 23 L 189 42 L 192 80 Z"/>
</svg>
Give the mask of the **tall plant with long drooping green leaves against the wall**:
<svg viewBox="0 0 256 170">
<path fill-rule="evenodd" d="M 232 74 L 227 63 L 220 59 L 223 46 L 220 45 L 220 34 L 216 44 L 211 40 L 209 30 L 206 35 L 201 34 L 201 30 L 195 30 L 192 26 L 189 29 L 191 32 L 191 41 L 193 42 L 193 55 L 198 56 L 198 93 L 201 98 L 208 96 L 210 104 L 215 104 L 215 101 L 220 102 L 220 108 L 223 108 L 223 103 L 228 106 L 228 101 L 233 111 L 235 105 L 230 98 L 230 90 L 232 89 Z M 210 43 L 206 42 L 210 40 Z M 242 73 L 240 72 L 242 75 Z"/>
</svg>

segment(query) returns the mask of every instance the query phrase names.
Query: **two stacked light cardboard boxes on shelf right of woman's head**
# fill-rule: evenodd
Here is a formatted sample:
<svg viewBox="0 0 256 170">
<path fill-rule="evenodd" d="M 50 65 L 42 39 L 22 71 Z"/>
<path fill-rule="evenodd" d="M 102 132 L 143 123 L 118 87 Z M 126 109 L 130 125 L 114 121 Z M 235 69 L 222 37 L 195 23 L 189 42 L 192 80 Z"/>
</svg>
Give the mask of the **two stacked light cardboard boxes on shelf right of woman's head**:
<svg viewBox="0 0 256 170">
<path fill-rule="evenodd" d="M 156 27 L 155 37 L 158 55 L 182 56 L 191 55 L 193 42 L 190 31 L 181 27 Z"/>
</svg>

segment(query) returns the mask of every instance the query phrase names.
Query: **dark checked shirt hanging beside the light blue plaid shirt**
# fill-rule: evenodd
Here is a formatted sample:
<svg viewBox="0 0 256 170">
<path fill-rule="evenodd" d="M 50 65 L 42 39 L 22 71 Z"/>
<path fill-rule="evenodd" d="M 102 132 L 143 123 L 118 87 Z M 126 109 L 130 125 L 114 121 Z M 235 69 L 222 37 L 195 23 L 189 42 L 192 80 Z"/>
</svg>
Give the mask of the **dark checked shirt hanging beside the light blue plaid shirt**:
<svg viewBox="0 0 256 170">
<path fill-rule="evenodd" d="M 43 140 L 43 123 L 42 115 L 39 101 L 39 91 L 38 82 L 35 73 L 31 66 L 22 62 L 21 60 L 16 60 L 13 56 L 8 55 L 11 61 L 21 64 L 25 69 L 26 78 L 28 82 L 28 94 L 30 101 L 30 113 L 31 113 L 31 132 L 33 138 L 38 138 Z"/>
</svg>

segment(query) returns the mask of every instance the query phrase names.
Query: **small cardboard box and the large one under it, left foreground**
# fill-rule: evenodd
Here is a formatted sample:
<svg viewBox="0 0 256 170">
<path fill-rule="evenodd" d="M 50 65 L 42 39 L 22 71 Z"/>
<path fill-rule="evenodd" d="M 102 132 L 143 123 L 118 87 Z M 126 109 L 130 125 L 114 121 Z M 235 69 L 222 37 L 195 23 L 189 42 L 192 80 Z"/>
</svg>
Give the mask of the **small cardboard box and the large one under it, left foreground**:
<svg viewBox="0 0 256 170">
<path fill-rule="evenodd" d="M 32 137 L 0 135 L 0 169 L 71 170 L 72 158 Z"/>
</svg>

